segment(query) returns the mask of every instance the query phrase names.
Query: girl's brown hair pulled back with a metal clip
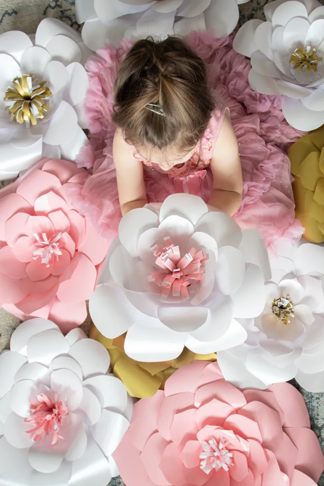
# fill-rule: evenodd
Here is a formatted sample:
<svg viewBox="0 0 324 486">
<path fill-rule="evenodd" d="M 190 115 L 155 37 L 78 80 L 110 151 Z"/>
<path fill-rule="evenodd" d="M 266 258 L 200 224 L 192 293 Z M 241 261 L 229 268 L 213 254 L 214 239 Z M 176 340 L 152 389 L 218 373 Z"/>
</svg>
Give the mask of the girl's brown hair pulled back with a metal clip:
<svg viewBox="0 0 324 486">
<path fill-rule="evenodd" d="M 147 109 L 150 103 L 160 104 L 165 116 Z M 129 143 L 194 147 L 213 109 L 205 63 L 182 39 L 139 40 L 127 53 L 115 82 L 113 120 Z"/>
</svg>

